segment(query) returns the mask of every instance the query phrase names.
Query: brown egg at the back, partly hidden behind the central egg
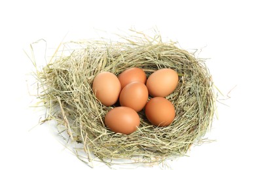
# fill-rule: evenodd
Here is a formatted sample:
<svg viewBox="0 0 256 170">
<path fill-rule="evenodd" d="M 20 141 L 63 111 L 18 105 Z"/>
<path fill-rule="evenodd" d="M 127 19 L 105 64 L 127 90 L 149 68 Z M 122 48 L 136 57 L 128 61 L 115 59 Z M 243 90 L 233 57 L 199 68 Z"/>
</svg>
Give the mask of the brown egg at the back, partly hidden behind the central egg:
<svg viewBox="0 0 256 170">
<path fill-rule="evenodd" d="M 130 82 L 142 82 L 145 84 L 146 80 L 147 76 L 145 72 L 137 67 L 126 69 L 119 75 L 119 81 L 122 88 Z"/>
</svg>

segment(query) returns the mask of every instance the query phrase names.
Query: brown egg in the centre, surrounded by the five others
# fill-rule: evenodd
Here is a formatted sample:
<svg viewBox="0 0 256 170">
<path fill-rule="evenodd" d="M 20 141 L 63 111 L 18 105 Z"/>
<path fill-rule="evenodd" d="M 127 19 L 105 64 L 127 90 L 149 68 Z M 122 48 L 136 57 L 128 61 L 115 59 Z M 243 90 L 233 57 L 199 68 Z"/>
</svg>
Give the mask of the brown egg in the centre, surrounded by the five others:
<svg viewBox="0 0 256 170">
<path fill-rule="evenodd" d="M 139 112 L 145 107 L 148 97 L 149 93 L 145 84 L 142 82 L 131 82 L 122 89 L 119 102 L 121 106 L 130 107 Z"/>
</svg>

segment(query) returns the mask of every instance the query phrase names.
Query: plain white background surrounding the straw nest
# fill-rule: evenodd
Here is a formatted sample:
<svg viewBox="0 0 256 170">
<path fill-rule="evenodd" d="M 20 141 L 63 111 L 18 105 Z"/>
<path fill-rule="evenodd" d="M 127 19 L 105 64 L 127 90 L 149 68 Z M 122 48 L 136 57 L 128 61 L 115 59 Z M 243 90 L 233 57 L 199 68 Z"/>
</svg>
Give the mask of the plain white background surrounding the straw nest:
<svg viewBox="0 0 256 170">
<path fill-rule="evenodd" d="M 255 3 L 247 0 L 1 1 L 0 169 L 90 169 L 65 148 L 54 127 L 36 126 L 45 112 L 29 108 L 35 100 L 26 74 L 33 65 L 24 50 L 45 39 L 50 56 L 65 35 L 64 41 L 97 38 L 96 30 L 116 33 L 131 27 L 157 27 L 181 48 L 202 48 L 199 57 L 210 58 L 211 75 L 224 94 L 219 101 L 225 105 L 217 103 L 219 120 L 215 116 L 207 134 L 216 141 L 193 146 L 189 157 L 168 162 L 170 168 L 256 169 L 255 11 Z M 36 58 L 44 64 L 40 48 Z"/>
</svg>

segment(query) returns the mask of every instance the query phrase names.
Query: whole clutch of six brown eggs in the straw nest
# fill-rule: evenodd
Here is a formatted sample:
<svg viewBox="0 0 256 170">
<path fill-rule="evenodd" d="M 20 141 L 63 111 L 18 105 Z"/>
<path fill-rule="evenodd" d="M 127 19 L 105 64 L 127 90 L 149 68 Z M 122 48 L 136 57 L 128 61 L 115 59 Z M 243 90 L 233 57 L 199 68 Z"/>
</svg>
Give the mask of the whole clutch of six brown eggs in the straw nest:
<svg viewBox="0 0 256 170">
<path fill-rule="evenodd" d="M 147 120 L 154 126 L 172 124 L 175 108 L 167 95 L 174 92 L 179 76 L 173 69 L 159 69 L 147 78 L 142 69 L 126 69 L 119 76 L 110 72 L 96 75 L 92 89 L 96 98 L 105 106 L 119 101 L 120 107 L 105 115 L 105 125 L 115 133 L 130 134 L 139 127 L 137 112 L 145 109 Z M 151 95 L 151 99 L 149 99 Z"/>
</svg>

